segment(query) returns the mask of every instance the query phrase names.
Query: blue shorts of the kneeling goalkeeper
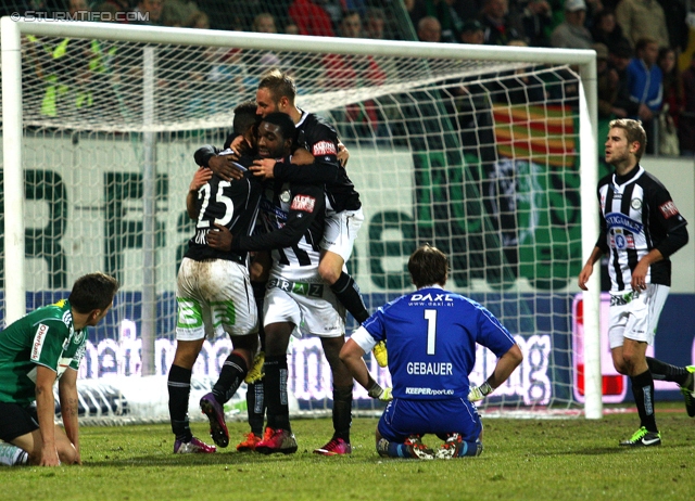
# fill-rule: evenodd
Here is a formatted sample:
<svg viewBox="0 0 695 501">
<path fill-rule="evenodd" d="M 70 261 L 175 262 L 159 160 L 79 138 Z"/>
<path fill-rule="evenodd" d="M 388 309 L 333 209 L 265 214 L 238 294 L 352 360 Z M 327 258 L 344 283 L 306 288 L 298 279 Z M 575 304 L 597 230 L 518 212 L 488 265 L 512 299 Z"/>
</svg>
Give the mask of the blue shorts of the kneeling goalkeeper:
<svg viewBox="0 0 695 501">
<path fill-rule="evenodd" d="M 476 406 L 467 399 L 405 400 L 389 402 L 379 424 L 379 434 L 389 441 L 402 444 L 410 435 L 434 434 L 442 440 L 457 433 L 466 441 L 476 441 L 482 422 Z"/>
</svg>

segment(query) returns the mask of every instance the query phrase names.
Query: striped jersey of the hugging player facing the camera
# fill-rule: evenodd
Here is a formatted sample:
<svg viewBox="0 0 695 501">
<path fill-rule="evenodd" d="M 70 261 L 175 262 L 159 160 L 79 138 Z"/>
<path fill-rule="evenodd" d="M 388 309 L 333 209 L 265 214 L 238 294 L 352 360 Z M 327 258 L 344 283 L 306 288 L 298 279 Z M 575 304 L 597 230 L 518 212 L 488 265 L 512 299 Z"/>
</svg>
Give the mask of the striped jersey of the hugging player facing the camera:
<svg viewBox="0 0 695 501">
<path fill-rule="evenodd" d="M 323 184 L 277 181 L 261 201 L 262 220 L 269 231 L 232 240 L 232 251 L 271 251 L 274 266 L 293 280 L 318 275 L 326 219 Z"/>
</svg>

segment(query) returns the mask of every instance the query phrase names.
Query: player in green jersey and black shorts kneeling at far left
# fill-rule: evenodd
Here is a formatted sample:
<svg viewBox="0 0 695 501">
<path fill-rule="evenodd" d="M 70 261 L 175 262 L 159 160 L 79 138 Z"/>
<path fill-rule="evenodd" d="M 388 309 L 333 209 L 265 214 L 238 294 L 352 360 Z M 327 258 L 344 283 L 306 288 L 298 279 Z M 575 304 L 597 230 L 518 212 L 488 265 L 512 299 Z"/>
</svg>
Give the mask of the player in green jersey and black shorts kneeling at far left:
<svg viewBox="0 0 695 501">
<path fill-rule="evenodd" d="M 117 291 L 116 279 L 86 274 L 67 299 L 0 332 L 0 464 L 81 464 L 77 370 L 87 327 L 106 316 Z M 56 380 L 64 428 L 54 424 Z"/>
</svg>

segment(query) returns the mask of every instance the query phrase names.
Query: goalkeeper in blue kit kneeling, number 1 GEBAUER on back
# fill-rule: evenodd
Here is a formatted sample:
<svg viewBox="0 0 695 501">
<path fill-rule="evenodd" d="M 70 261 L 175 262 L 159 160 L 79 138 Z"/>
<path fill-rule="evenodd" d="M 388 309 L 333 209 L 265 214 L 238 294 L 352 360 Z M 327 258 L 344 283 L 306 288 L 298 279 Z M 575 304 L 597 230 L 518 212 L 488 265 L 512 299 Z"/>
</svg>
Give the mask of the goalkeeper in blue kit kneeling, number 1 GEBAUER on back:
<svg viewBox="0 0 695 501">
<path fill-rule="evenodd" d="M 446 256 L 424 245 L 408 260 L 417 291 L 379 308 L 345 343 L 340 358 L 369 396 L 389 401 L 376 433 L 381 457 L 451 459 L 482 451 L 482 423 L 473 401 L 503 384 L 523 356 L 511 334 L 484 307 L 444 290 Z M 363 356 L 388 338 L 393 389 L 369 374 Z M 468 375 L 476 344 L 498 358 L 480 387 Z M 435 452 L 422 442 L 434 434 L 444 444 Z"/>
</svg>

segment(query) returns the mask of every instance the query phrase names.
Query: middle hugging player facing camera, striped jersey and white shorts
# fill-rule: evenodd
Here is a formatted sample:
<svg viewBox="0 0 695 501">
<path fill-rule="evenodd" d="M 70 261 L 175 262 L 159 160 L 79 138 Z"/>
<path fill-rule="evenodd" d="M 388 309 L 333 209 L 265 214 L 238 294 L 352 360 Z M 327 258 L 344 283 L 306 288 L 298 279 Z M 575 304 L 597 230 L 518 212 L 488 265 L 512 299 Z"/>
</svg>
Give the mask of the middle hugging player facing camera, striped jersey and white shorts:
<svg viewBox="0 0 695 501">
<path fill-rule="evenodd" d="M 291 136 L 289 136 L 291 134 Z M 258 126 L 258 154 L 267 158 L 289 155 L 294 123 L 286 113 L 269 113 Z M 287 140 L 285 138 L 288 138 Z M 278 149 L 279 146 L 279 149 Z M 344 309 L 321 279 L 319 242 L 324 234 L 326 205 L 320 182 L 275 180 L 264 211 L 273 231 L 253 236 L 235 236 L 232 251 L 273 251 L 264 305 L 266 334 L 265 399 L 267 426 L 255 450 L 270 454 L 293 453 L 287 396 L 287 348 L 290 335 L 319 336 L 333 381 L 333 437 L 315 452 L 326 455 L 351 452 L 353 381 L 340 361 L 344 344 Z"/>
</svg>

